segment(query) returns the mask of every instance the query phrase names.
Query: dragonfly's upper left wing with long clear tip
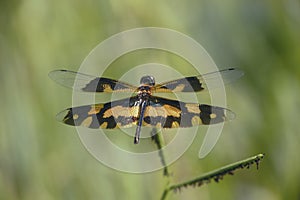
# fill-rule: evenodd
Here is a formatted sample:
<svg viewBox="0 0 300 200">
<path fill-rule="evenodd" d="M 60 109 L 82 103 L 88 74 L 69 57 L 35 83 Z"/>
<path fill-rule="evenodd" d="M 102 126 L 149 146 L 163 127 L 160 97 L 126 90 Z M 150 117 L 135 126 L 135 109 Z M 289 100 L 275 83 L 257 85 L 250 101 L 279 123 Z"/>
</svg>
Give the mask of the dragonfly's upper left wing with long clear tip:
<svg viewBox="0 0 300 200">
<path fill-rule="evenodd" d="M 55 82 L 83 92 L 134 92 L 135 86 L 117 80 L 91 76 L 68 70 L 55 70 L 49 73 Z"/>
</svg>

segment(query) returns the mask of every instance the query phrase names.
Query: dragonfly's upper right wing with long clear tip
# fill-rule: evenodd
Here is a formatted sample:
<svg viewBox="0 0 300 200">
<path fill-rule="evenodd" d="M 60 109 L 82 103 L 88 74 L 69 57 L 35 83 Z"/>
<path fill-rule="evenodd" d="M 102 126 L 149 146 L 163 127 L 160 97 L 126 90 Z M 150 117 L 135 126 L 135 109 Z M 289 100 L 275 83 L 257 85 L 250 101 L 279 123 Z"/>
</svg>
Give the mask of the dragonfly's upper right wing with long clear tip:
<svg viewBox="0 0 300 200">
<path fill-rule="evenodd" d="M 220 87 L 224 84 L 235 81 L 243 76 L 243 71 L 235 68 L 224 69 L 199 76 L 185 77 L 162 84 L 155 85 L 154 92 L 199 92 L 202 90 Z"/>
</svg>

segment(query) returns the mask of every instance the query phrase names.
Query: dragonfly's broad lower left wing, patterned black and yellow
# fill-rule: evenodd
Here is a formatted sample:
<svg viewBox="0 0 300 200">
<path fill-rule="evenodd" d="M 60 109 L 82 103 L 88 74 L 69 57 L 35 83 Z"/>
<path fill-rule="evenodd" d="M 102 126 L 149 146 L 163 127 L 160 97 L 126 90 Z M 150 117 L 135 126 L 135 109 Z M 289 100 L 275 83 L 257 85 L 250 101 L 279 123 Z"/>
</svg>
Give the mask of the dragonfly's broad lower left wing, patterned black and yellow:
<svg viewBox="0 0 300 200">
<path fill-rule="evenodd" d="M 138 111 L 137 97 L 131 97 L 105 104 L 68 108 L 58 113 L 56 118 L 68 125 L 92 129 L 125 128 L 137 123 Z"/>
</svg>

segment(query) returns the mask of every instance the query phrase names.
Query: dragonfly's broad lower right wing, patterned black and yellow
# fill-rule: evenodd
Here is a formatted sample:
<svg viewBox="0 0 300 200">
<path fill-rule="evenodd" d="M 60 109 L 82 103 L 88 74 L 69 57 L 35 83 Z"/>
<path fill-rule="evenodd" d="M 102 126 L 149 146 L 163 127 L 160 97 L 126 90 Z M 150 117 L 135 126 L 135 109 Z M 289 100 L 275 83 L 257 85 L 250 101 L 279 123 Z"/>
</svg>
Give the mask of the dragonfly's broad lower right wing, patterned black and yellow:
<svg viewBox="0 0 300 200">
<path fill-rule="evenodd" d="M 163 128 L 192 127 L 217 124 L 234 117 L 235 114 L 226 108 L 152 96 L 145 110 L 144 125 Z"/>
</svg>

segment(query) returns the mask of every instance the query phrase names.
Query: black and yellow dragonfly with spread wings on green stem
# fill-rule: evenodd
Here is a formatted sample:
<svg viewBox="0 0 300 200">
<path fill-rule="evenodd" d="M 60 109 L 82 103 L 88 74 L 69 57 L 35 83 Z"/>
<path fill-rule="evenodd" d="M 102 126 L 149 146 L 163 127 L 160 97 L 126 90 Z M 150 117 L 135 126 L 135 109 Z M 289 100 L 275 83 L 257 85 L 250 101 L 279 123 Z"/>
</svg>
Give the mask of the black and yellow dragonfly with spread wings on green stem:
<svg viewBox="0 0 300 200">
<path fill-rule="evenodd" d="M 105 77 L 96 77 L 69 70 L 55 70 L 49 77 L 55 82 L 81 92 L 130 92 L 133 96 L 107 103 L 67 108 L 59 112 L 57 120 L 72 126 L 92 129 L 115 129 L 136 126 L 134 143 L 140 141 L 141 127 L 185 128 L 230 121 L 235 114 L 227 108 L 207 104 L 182 102 L 154 96 L 154 93 L 202 92 L 208 90 L 206 81 L 229 83 L 243 75 L 243 71 L 228 68 L 204 75 L 189 76 L 155 83 L 153 76 L 143 76 L 139 86 Z M 76 84 L 75 84 L 76 83 Z"/>
</svg>

